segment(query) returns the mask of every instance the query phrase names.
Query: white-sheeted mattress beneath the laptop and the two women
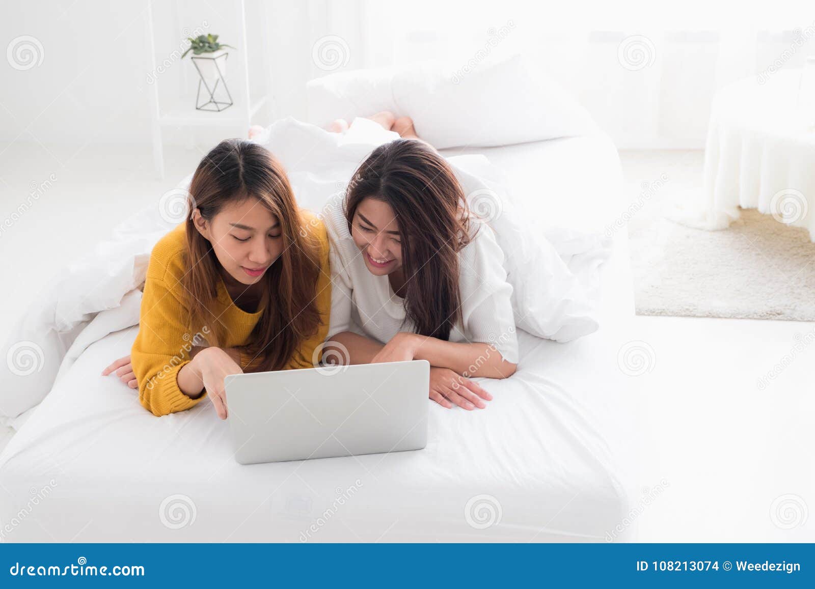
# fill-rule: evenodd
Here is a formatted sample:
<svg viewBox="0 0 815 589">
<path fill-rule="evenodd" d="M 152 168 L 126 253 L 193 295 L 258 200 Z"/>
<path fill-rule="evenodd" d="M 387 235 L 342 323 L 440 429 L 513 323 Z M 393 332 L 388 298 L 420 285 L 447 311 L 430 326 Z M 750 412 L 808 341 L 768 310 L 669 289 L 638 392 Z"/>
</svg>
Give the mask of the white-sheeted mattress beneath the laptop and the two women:
<svg viewBox="0 0 815 589">
<path fill-rule="evenodd" d="M 601 229 L 622 210 L 606 138 L 482 152 L 508 169 L 516 200 L 546 225 Z M 484 382 L 495 398 L 486 410 L 429 401 L 422 451 L 241 466 L 209 401 L 156 418 L 136 393 L 99 376 L 129 352 L 137 328 L 113 333 L 78 358 L 0 455 L 3 538 L 608 539 L 628 512 L 631 377 L 617 366 L 633 314 L 627 260 L 618 232 L 602 270 L 598 332 L 568 344 L 519 333 L 518 371 Z"/>
</svg>

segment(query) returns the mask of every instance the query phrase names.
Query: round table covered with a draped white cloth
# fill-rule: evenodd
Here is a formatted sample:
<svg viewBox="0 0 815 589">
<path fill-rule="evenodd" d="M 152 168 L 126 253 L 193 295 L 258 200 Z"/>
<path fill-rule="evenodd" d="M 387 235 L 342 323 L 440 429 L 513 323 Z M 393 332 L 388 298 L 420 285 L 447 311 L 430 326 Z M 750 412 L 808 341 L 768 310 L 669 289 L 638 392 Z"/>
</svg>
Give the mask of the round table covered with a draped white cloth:
<svg viewBox="0 0 815 589">
<path fill-rule="evenodd" d="M 749 77 L 714 97 L 702 208 L 687 224 L 724 229 L 739 208 L 808 228 L 815 241 L 815 97 L 810 71 Z M 803 84 L 802 84 L 803 82 Z"/>
</svg>

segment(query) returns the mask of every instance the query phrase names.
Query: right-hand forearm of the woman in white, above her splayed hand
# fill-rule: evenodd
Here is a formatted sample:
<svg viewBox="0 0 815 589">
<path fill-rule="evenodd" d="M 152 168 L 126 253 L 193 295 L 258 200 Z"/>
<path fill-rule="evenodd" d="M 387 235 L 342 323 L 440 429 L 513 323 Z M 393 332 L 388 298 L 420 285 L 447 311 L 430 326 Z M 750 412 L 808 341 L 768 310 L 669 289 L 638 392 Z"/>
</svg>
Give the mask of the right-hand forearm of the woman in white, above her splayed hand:
<svg viewBox="0 0 815 589">
<path fill-rule="evenodd" d="M 492 344 L 456 343 L 413 333 L 406 336 L 406 345 L 414 349 L 413 358 L 427 360 L 431 366 L 449 368 L 461 376 L 502 379 L 512 376 L 518 366 L 504 360 Z"/>
</svg>

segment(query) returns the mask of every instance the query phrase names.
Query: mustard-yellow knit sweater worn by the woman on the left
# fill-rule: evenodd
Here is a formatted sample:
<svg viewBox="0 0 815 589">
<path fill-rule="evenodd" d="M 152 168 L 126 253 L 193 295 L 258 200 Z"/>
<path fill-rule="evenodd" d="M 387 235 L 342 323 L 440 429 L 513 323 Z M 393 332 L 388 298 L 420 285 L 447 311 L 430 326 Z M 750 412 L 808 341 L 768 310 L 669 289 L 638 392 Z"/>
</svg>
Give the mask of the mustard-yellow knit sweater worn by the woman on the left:
<svg viewBox="0 0 815 589">
<path fill-rule="evenodd" d="M 304 226 L 319 240 L 320 273 L 317 282 L 315 303 L 323 322 L 318 331 L 308 341 L 303 342 L 299 354 L 295 353 L 287 370 L 311 368 L 310 360 L 317 346 L 328 335 L 328 315 L 331 311 L 331 277 L 328 269 L 328 235 L 325 226 L 311 213 L 302 211 Z M 133 343 L 130 360 L 136 380 L 139 382 L 139 401 L 153 415 L 168 415 L 184 411 L 200 402 L 199 398 L 187 397 L 178 388 L 178 371 L 191 362 L 190 350 L 193 345 L 206 339 L 206 333 L 189 333 L 186 326 L 187 305 L 184 304 L 181 278 L 187 271 L 183 253 L 187 248 L 185 226 L 182 223 L 158 241 L 150 255 L 147 279 L 144 284 L 142 308 L 139 319 L 139 334 Z M 252 333 L 263 310 L 247 313 L 241 310 L 229 296 L 222 279 L 218 279 L 218 299 L 214 314 L 228 326 L 227 341 L 223 348 L 234 348 L 250 343 Z M 209 330 L 208 330 L 209 331 Z M 240 354 L 240 367 L 244 370 L 249 361 L 246 354 Z"/>
</svg>

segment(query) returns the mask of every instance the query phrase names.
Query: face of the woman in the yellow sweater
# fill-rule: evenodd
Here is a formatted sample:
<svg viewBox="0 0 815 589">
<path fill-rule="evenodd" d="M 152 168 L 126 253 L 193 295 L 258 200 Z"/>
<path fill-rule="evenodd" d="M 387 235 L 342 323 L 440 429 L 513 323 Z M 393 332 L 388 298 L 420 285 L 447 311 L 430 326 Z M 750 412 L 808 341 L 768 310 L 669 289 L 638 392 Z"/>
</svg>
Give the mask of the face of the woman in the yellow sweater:
<svg viewBox="0 0 815 589">
<path fill-rule="evenodd" d="M 211 221 L 196 209 L 193 220 L 223 269 L 241 284 L 258 283 L 283 253 L 280 222 L 256 198 L 227 204 Z"/>
</svg>

